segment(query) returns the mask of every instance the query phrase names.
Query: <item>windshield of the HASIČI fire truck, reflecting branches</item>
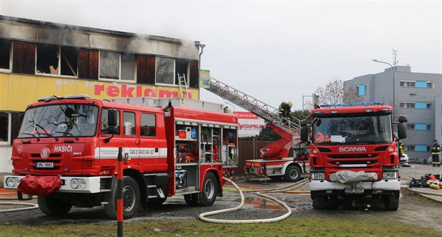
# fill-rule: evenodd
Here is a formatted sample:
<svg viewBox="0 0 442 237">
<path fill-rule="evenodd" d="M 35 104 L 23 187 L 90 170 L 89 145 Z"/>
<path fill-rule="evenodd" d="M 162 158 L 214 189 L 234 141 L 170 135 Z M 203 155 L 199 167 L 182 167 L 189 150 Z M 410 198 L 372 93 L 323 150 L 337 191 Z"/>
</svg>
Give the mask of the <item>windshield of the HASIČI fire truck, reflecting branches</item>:
<svg viewBox="0 0 442 237">
<path fill-rule="evenodd" d="M 26 110 L 18 138 L 88 137 L 97 130 L 98 107 L 53 104 Z"/>
</svg>

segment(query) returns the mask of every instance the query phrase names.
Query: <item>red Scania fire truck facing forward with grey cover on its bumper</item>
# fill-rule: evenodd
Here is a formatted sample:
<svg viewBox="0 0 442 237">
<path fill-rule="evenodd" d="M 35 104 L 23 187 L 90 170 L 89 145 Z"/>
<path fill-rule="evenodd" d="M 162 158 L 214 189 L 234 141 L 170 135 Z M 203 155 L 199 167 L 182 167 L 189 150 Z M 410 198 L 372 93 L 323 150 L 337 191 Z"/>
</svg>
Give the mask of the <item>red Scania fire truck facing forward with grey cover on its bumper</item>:
<svg viewBox="0 0 442 237">
<path fill-rule="evenodd" d="M 371 196 L 383 201 L 386 210 L 398 209 L 396 142 L 406 138 L 407 118 L 393 122 L 392 113 L 391 106 L 380 102 L 324 104 L 312 110 L 311 125 L 301 121 L 301 140 L 310 143 L 309 187 L 315 209 L 332 205 L 339 196 Z"/>
</svg>

